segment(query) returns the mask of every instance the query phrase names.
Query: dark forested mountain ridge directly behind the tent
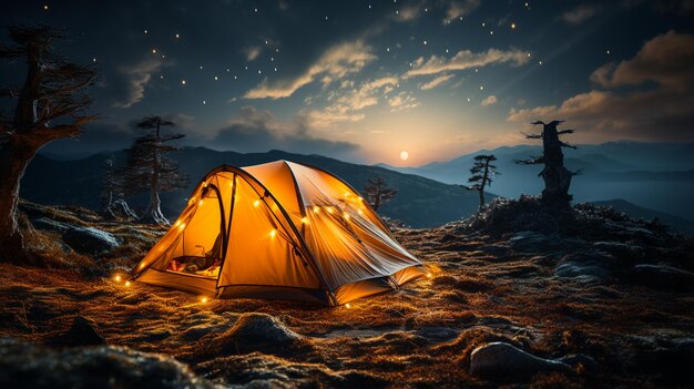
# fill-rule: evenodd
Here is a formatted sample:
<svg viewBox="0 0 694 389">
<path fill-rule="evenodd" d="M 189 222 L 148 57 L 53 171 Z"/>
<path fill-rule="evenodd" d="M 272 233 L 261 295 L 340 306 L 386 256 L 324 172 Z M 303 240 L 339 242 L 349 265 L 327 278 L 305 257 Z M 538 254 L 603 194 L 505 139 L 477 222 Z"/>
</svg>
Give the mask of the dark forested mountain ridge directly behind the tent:
<svg viewBox="0 0 694 389">
<path fill-rule="evenodd" d="M 404 174 L 378 166 L 341 162 L 320 155 L 290 154 L 282 151 L 242 154 L 217 152 L 204 147 L 185 147 L 172 153 L 181 170 L 190 177 L 186 188 L 162 194 L 162 212 L 175 217 L 186 204 L 193 187 L 212 168 L 229 164 L 247 166 L 287 160 L 325 168 L 347 181 L 357 191 L 370 177 L 381 176 L 398 191 L 397 196 L 386 203 L 379 213 L 402 221 L 414 227 L 430 227 L 471 215 L 477 211 L 477 194 L 456 185 L 443 184 L 430 178 Z M 22 180 L 21 196 L 41 204 L 71 204 L 99 208 L 101 176 L 104 161 L 113 157 L 116 165 L 125 161 L 124 152 L 95 154 L 85 158 L 61 161 L 38 155 Z M 488 195 L 491 198 L 492 195 Z M 141 207 L 146 194 L 135 196 L 131 206 Z"/>
</svg>

